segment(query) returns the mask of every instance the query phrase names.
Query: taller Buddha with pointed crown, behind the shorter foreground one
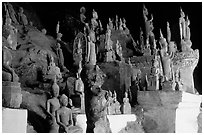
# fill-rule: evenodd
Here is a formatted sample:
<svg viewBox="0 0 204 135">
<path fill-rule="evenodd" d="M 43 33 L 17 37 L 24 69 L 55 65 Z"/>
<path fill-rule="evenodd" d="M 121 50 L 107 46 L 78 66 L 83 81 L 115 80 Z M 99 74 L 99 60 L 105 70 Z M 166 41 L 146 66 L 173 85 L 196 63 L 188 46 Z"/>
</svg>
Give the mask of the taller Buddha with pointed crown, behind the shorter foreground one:
<svg viewBox="0 0 204 135">
<path fill-rule="evenodd" d="M 59 130 L 59 126 L 56 122 L 56 111 L 60 108 L 60 103 L 59 103 L 59 86 L 57 85 L 56 82 L 56 77 L 54 80 L 54 83 L 52 85 L 52 98 L 47 100 L 47 106 L 46 106 L 46 110 L 47 113 L 50 116 L 50 133 L 58 133 Z"/>
</svg>

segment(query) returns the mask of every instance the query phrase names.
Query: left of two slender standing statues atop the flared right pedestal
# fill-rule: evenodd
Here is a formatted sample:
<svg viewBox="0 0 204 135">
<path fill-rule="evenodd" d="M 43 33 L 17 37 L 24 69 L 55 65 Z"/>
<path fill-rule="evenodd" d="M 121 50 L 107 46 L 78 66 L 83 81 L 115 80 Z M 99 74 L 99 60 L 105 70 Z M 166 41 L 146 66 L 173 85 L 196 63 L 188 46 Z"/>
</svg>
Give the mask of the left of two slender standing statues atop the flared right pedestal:
<svg viewBox="0 0 204 135">
<path fill-rule="evenodd" d="M 182 8 L 180 9 L 180 15 L 179 18 L 179 27 L 180 27 L 180 36 L 181 39 L 185 39 L 186 36 L 186 24 L 185 24 L 185 13 L 183 12 Z"/>
</svg>

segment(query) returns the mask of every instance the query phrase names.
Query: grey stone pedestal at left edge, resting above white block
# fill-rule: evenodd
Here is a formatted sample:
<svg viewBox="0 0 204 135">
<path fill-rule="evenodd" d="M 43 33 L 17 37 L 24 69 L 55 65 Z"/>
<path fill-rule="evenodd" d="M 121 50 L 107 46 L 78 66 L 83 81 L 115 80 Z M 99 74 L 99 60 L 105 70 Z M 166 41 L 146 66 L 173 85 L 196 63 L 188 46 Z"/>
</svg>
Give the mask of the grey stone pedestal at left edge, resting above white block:
<svg viewBox="0 0 204 135">
<path fill-rule="evenodd" d="M 9 108 L 19 108 L 21 103 L 20 83 L 2 82 L 2 105 Z"/>
</svg>

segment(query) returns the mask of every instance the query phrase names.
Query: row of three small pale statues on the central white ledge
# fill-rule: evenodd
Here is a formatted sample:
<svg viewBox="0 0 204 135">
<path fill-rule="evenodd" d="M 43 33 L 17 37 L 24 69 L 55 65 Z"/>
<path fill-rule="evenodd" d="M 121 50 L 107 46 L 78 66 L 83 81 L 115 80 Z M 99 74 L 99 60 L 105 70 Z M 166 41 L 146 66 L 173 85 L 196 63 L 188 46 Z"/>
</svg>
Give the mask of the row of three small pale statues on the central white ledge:
<svg viewBox="0 0 204 135">
<path fill-rule="evenodd" d="M 107 106 L 107 114 L 108 115 L 119 115 L 119 114 L 131 114 L 131 106 L 129 103 L 128 93 L 125 92 L 125 97 L 123 98 L 123 103 L 120 105 L 120 103 L 117 101 L 117 94 L 114 91 L 112 94 L 111 91 L 109 91 L 108 96 L 108 106 Z"/>
</svg>

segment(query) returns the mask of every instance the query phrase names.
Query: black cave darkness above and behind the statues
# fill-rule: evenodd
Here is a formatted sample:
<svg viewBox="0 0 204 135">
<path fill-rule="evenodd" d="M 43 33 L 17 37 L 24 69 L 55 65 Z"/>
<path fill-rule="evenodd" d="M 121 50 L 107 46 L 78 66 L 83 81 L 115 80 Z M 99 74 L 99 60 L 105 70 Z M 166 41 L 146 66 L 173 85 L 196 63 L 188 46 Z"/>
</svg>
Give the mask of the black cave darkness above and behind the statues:
<svg viewBox="0 0 204 135">
<path fill-rule="evenodd" d="M 126 19 L 126 25 L 132 34 L 134 40 L 139 39 L 139 29 L 144 27 L 142 16 L 143 4 L 148 9 L 149 15 L 153 14 L 154 20 L 154 34 L 156 40 L 159 39 L 159 29 L 162 30 L 166 37 L 166 22 L 170 23 L 172 41 L 177 43 L 179 48 L 179 17 L 180 7 L 188 15 L 190 19 L 191 41 L 192 48 L 199 49 L 199 62 L 194 70 L 194 84 L 195 88 L 202 94 L 202 2 L 15 2 L 14 6 L 22 6 L 24 10 L 29 11 L 28 20 L 35 20 L 34 25 L 39 29 L 45 28 L 47 34 L 53 37 L 55 35 L 55 28 L 57 21 L 62 21 L 69 16 L 79 22 L 79 9 L 84 6 L 86 8 L 87 21 L 92 17 L 92 11 L 98 13 L 99 19 L 106 29 L 108 18 L 115 18 L 116 14 L 119 18 Z M 3 5 L 2 5 L 3 6 Z M 72 42 L 74 39 L 73 27 L 70 26 L 67 31 L 60 30 L 63 40 Z M 66 33 L 64 33 L 66 32 Z M 66 63 L 66 58 L 65 58 Z"/>
</svg>

